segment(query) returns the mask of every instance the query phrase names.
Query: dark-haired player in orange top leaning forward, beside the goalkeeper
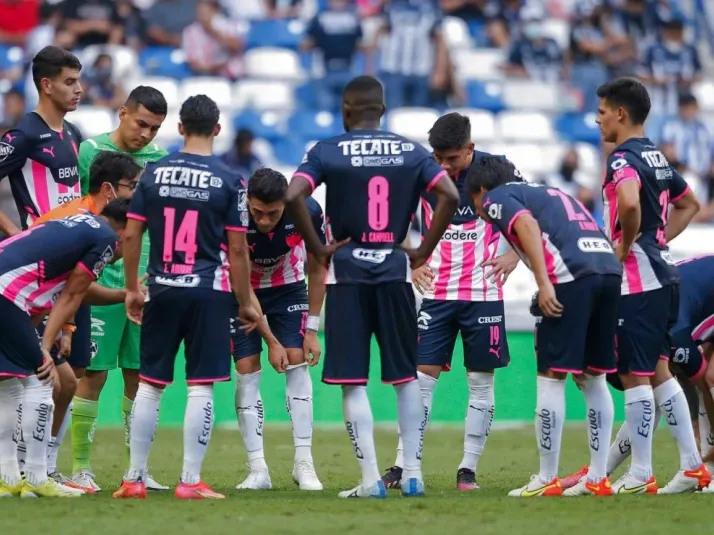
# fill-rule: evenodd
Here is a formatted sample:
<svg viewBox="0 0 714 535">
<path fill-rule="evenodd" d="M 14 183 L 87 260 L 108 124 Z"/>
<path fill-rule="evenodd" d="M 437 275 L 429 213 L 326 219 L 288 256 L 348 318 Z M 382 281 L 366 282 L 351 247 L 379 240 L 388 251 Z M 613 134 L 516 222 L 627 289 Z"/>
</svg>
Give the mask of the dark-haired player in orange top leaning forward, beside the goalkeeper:
<svg viewBox="0 0 714 535">
<path fill-rule="evenodd" d="M 35 225 L 54 219 L 63 219 L 70 215 L 101 213 L 104 206 L 113 199 L 130 198 L 136 187 L 141 168 L 134 160 L 125 154 L 102 152 L 92 163 L 92 180 L 89 194 L 50 210 L 35 221 Z M 95 303 L 123 303 L 124 291 L 92 285 Z M 97 295 L 97 292 L 101 292 Z M 99 299 L 99 301 L 97 301 Z M 82 377 L 89 365 L 91 340 L 90 308 L 83 304 L 77 310 L 74 320 L 63 329 L 63 335 L 71 344 L 69 355 L 58 354 L 56 357 L 57 372 L 60 376 L 60 391 L 55 395 L 56 414 L 52 421 L 52 435 L 49 442 L 47 469 L 50 477 L 58 483 L 76 488 L 76 483 L 57 472 L 57 455 L 69 420 L 68 408 L 77 388 L 77 377 Z M 40 326 L 42 328 L 42 326 Z M 41 329 L 40 329 L 41 331 Z M 66 358 L 65 358 L 66 357 Z M 84 489 L 88 492 L 94 490 Z"/>
</svg>

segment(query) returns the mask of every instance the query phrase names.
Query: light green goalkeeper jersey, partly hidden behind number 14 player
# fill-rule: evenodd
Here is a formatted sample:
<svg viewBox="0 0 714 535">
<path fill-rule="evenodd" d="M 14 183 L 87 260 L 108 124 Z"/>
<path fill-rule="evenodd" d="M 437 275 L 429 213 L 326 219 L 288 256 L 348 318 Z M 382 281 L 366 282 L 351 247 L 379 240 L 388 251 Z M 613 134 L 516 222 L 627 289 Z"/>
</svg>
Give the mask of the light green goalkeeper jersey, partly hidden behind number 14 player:
<svg viewBox="0 0 714 535">
<path fill-rule="evenodd" d="M 125 152 L 117 147 L 114 142 L 109 137 L 109 134 L 101 134 L 99 136 L 93 137 L 82 141 L 79 145 L 79 180 L 82 188 L 82 195 L 87 195 L 89 190 L 89 167 L 92 165 L 92 161 L 96 155 L 103 151 L 110 150 L 114 152 L 124 152 L 128 154 L 136 163 L 141 167 L 145 167 L 147 163 L 155 162 L 160 160 L 168 154 L 166 149 L 159 147 L 156 143 L 150 143 L 143 149 L 137 152 Z M 146 272 L 146 264 L 149 260 L 149 234 L 144 233 L 143 240 L 141 242 L 141 260 L 139 261 L 139 273 Z M 101 277 L 99 278 L 99 284 L 107 288 L 124 288 L 124 261 L 119 260 L 118 262 L 108 265 L 104 268 Z"/>
</svg>

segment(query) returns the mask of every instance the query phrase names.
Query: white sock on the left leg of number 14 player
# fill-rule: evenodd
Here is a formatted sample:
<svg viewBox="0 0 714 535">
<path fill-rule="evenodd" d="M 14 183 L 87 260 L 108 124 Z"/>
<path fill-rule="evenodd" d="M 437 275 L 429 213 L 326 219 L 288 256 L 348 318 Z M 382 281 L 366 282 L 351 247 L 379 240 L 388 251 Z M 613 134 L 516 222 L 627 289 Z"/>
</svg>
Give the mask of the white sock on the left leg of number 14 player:
<svg viewBox="0 0 714 535">
<path fill-rule="evenodd" d="M 159 407 L 163 390 L 148 383 L 139 383 L 131 407 L 129 431 L 129 471 L 124 479 L 142 481 L 146 478 L 149 450 L 159 423 Z"/>
</svg>

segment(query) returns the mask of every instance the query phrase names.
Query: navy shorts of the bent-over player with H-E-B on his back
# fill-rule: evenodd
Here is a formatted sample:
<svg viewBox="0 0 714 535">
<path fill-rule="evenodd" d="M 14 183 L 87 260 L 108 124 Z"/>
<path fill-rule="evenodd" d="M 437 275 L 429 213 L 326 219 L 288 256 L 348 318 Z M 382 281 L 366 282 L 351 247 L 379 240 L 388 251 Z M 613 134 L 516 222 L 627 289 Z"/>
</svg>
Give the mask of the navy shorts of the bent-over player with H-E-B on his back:
<svg viewBox="0 0 714 535">
<path fill-rule="evenodd" d="M 535 349 L 538 372 L 597 373 L 615 371 L 618 275 L 589 275 L 555 285 L 563 305 L 560 318 L 536 310 Z"/>
</svg>

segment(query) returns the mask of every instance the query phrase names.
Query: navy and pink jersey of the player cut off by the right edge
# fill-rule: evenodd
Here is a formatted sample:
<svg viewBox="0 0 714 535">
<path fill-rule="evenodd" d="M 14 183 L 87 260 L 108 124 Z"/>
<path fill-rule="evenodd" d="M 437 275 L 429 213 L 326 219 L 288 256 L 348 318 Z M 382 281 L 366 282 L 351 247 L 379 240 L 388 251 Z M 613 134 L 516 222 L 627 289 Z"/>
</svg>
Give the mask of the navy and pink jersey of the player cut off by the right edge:
<svg viewBox="0 0 714 535">
<path fill-rule="evenodd" d="M 683 260 L 677 271 L 679 316 L 672 332 L 691 330 L 697 342 L 714 338 L 714 255 Z"/>
</svg>

